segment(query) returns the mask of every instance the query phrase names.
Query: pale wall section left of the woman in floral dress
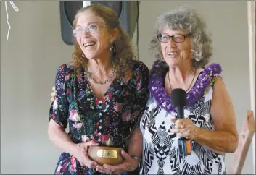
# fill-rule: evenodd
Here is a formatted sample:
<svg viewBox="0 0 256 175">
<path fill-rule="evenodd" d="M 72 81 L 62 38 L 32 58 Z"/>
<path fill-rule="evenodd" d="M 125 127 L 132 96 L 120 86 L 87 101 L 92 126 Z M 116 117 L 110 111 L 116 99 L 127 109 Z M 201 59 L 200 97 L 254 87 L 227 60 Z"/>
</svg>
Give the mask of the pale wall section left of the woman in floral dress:
<svg viewBox="0 0 256 175">
<path fill-rule="evenodd" d="M 60 36 L 58 1 L 1 1 L 1 174 L 53 174 L 59 151 L 48 139 L 51 87 L 72 46 Z"/>
</svg>

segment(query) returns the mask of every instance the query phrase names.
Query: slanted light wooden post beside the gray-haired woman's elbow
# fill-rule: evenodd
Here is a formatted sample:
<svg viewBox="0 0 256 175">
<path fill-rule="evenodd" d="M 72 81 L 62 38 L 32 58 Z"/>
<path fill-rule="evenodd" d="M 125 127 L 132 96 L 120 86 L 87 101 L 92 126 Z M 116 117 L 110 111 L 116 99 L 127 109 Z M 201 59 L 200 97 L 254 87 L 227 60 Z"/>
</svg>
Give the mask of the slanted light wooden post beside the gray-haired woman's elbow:
<svg viewBox="0 0 256 175">
<path fill-rule="evenodd" d="M 247 117 L 241 127 L 239 135 L 239 145 L 233 155 L 231 166 L 228 169 L 228 174 L 241 174 L 244 166 L 244 161 L 247 157 L 249 145 L 252 142 L 252 137 L 255 134 L 255 117 L 252 111 L 247 111 Z"/>
</svg>

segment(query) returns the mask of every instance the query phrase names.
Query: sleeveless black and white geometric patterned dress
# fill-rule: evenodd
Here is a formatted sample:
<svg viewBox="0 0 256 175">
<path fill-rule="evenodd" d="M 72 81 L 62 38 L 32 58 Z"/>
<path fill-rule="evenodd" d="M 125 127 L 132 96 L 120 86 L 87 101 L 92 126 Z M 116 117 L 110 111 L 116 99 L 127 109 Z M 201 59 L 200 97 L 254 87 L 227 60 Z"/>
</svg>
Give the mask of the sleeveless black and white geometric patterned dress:
<svg viewBox="0 0 256 175">
<path fill-rule="evenodd" d="M 210 82 L 217 76 L 220 74 L 209 76 Z M 212 84 L 207 85 L 194 106 L 184 110 L 185 118 L 191 119 L 197 127 L 215 129 L 210 114 L 212 92 Z M 171 119 L 176 118 L 176 111 L 168 112 L 154 97 L 151 93 L 140 123 L 144 136 L 140 174 L 226 174 L 224 155 L 214 153 L 194 140 L 191 140 L 191 155 L 181 158 L 179 137 L 170 132 L 173 127 Z"/>
</svg>

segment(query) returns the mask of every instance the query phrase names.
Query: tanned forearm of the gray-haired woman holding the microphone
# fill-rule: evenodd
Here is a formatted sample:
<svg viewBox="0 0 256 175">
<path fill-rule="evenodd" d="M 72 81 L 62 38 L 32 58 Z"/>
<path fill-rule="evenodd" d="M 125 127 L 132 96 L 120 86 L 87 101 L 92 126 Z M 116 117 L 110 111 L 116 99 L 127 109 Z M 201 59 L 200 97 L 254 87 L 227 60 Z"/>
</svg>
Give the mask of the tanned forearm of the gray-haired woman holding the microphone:
<svg viewBox="0 0 256 175">
<path fill-rule="evenodd" d="M 234 153 L 238 146 L 238 138 L 229 132 L 212 131 L 197 127 L 195 142 L 209 148 L 215 153 Z"/>
</svg>

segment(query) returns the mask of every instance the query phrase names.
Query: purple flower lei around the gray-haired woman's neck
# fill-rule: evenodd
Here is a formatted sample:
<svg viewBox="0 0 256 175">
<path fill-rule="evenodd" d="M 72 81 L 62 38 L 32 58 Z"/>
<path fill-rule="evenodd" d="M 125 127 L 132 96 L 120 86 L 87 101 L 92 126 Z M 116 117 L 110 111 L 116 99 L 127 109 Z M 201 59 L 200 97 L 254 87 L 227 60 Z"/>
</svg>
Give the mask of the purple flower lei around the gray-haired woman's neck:
<svg viewBox="0 0 256 175">
<path fill-rule="evenodd" d="M 163 87 L 162 74 L 165 71 L 165 67 L 167 67 L 167 64 L 164 61 L 157 60 L 154 62 L 150 72 L 148 87 L 158 106 L 164 108 L 169 113 L 176 112 L 176 107 L 171 103 L 170 96 L 166 93 L 165 87 Z M 212 77 L 220 75 L 221 71 L 222 69 L 219 64 L 210 64 L 209 67 L 203 69 L 197 78 L 197 82 L 189 93 L 186 93 L 186 106 L 184 106 L 184 108 L 194 106 L 194 104 L 202 98 L 205 88 L 210 85 Z"/>
</svg>

